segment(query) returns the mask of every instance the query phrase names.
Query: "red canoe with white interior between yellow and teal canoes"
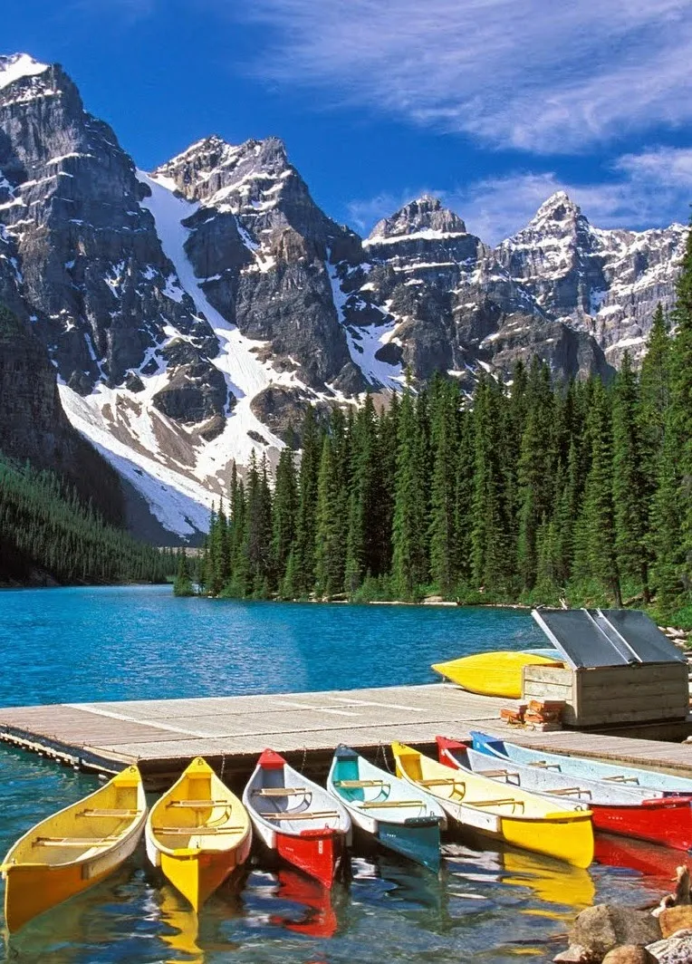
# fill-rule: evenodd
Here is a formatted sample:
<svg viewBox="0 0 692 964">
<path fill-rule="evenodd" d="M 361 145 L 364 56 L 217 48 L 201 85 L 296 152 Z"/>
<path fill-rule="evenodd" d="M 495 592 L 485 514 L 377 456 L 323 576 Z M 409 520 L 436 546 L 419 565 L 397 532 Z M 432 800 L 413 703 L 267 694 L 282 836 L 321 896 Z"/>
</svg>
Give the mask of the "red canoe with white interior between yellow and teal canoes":
<svg viewBox="0 0 692 964">
<path fill-rule="evenodd" d="M 260 756 L 243 793 L 254 830 L 283 860 L 332 887 L 351 836 L 348 811 L 274 750 Z"/>
</svg>

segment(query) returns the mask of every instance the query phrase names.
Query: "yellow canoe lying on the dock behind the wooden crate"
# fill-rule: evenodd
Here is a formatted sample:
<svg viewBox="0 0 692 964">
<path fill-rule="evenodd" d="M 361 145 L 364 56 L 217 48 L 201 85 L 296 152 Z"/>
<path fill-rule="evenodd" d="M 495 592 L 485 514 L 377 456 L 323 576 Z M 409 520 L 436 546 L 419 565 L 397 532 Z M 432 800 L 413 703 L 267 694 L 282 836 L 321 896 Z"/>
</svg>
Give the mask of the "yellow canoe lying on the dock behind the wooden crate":
<svg viewBox="0 0 692 964">
<path fill-rule="evenodd" d="M 534 653 L 476 653 L 450 659 L 445 663 L 433 663 L 441 676 L 485 696 L 505 696 L 510 700 L 521 697 L 521 671 L 524 666 L 562 666 L 563 663 Z"/>
</svg>

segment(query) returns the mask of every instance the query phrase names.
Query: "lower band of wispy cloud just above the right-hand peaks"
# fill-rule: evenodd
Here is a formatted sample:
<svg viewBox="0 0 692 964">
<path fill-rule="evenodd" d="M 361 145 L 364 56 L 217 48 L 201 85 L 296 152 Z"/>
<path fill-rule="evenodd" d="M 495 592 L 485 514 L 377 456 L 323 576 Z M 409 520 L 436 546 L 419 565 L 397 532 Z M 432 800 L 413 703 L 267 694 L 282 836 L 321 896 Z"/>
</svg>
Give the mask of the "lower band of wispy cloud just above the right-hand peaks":
<svg viewBox="0 0 692 964">
<path fill-rule="evenodd" d="M 464 218 L 470 231 L 496 244 L 522 228 L 551 194 L 567 191 L 599 228 L 641 229 L 686 222 L 692 201 L 692 148 L 625 154 L 613 165 L 613 174 L 607 181 L 579 183 L 553 173 L 518 172 L 453 190 L 426 187 L 398 197 L 380 194 L 352 201 L 349 214 L 355 227 L 369 231 L 406 201 L 435 194 Z"/>
</svg>

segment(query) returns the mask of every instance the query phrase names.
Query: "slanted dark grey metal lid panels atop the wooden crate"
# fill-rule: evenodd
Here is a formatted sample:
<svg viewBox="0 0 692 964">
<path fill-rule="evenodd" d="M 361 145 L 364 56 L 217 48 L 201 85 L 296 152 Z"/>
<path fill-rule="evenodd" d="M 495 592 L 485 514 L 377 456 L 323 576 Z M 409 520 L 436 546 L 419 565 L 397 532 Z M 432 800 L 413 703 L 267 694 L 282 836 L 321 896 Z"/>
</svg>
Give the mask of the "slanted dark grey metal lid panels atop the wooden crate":
<svg viewBox="0 0 692 964">
<path fill-rule="evenodd" d="M 638 609 L 534 609 L 531 615 L 572 669 L 685 662 Z"/>
</svg>

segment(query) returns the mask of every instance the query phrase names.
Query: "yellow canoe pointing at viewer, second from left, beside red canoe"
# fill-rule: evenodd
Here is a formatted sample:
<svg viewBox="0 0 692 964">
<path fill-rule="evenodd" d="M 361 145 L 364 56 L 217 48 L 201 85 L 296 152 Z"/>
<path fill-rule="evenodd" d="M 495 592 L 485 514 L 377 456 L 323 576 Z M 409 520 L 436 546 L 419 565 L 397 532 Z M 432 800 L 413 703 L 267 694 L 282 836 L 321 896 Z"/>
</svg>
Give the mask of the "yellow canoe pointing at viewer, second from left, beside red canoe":
<svg viewBox="0 0 692 964">
<path fill-rule="evenodd" d="M 151 808 L 146 854 L 198 911 L 250 856 L 248 812 L 198 757 Z"/>
</svg>

